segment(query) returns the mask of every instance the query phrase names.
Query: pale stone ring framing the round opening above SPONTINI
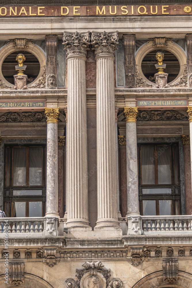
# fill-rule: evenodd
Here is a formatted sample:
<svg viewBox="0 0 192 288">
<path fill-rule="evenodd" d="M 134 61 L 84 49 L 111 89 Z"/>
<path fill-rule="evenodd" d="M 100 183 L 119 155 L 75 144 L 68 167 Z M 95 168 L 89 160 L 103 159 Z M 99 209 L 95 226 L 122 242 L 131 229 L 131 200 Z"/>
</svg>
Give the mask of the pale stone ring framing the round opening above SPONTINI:
<svg viewBox="0 0 192 288">
<path fill-rule="evenodd" d="M 178 59 L 178 61 L 179 61 L 179 65 L 180 65 L 179 74 L 177 75 L 177 77 L 173 81 L 169 82 L 169 85 L 174 85 L 174 83 L 178 82 L 180 77 L 182 77 L 182 75 L 183 75 L 183 73 L 185 71 L 187 57 L 186 57 L 185 51 L 178 44 L 176 44 L 174 42 L 171 42 L 171 41 L 168 41 L 167 42 L 167 46 L 163 47 L 162 49 L 173 53 L 176 56 L 176 58 Z M 151 52 L 153 50 L 157 50 L 157 47 L 153 47 L 153 41 L 149 41 L 149 42 L 143 44 L 136 51 L 135 64 L 136 64 L 136 68 L 137 68 L 139 74 L 142 76 L 143 79 L 145 79 L 145 82 L 147 84 L 150 84 L 150 85 L 154 86 L 155 83 L 149 81 L 145 77 L 145 75 L 143 74 L 142 69 L 141 69 L 141 63 L 142 63 L 143 58 L 149 52 Z M 159 48 L 159 50 L 161 50 L 161 48 Z"/>
</svg>

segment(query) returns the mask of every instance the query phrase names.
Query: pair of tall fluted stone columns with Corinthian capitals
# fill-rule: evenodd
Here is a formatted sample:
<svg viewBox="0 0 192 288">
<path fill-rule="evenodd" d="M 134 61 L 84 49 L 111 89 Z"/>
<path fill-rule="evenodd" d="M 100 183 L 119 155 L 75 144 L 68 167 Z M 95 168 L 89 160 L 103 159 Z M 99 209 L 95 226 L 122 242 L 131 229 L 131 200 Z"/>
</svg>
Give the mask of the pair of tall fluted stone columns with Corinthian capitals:
<svg viewBox="0 0 192 288">
<path fill-rule="evenodd" d="M 119 226 L 115 150 L 114 50 L 117 31 L 91 34 L 96 60 L 97 211 L 96 226 Z M 67 222 L 88 227 L 88 171 L 85 60 L 90 32 L 64 32 L 68 63 Z"/>
</svg>

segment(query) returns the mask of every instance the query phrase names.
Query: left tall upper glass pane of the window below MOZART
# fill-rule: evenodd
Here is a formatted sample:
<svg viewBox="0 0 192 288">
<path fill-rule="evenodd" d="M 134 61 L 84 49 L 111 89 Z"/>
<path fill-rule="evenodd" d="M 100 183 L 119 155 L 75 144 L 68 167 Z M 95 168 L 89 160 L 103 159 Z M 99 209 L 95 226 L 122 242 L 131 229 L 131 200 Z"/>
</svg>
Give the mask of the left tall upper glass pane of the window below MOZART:
<svg viewBox="0 0 192 288">
<path fill-rule="evenodd" d="M 13 186 L 26 185 L 26 148 L 13 148 Z"/>
</svg>

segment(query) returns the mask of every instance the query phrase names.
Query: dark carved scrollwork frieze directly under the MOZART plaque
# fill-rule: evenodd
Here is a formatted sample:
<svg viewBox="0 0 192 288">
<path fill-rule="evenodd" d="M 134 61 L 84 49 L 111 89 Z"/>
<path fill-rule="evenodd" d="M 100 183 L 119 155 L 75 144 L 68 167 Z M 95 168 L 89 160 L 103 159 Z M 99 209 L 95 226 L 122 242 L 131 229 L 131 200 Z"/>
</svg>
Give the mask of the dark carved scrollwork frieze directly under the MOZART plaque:
<svg viewBox="0 0 192 288">
<path fill-rule="evenodd" d="M 0 117 L 0 122 L 45 122 L 45 113 L 33 112 L 7 112 Z"/>
</svg>

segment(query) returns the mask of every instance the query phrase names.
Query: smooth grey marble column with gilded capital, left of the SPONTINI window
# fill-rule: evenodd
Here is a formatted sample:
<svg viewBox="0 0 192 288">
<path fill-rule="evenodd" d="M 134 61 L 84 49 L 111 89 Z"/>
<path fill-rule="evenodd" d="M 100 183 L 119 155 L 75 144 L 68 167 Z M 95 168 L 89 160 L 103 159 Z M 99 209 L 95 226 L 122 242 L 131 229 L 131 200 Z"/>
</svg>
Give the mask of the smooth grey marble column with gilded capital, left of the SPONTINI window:
<svg viewBox="0 0 192 288">
<path fill-rule="evenodd" d="M 138 199 L 137 134 L 138 107 L 124 107 L 127 154 L 127 216 L 140 215 Z"/>
</svg>

